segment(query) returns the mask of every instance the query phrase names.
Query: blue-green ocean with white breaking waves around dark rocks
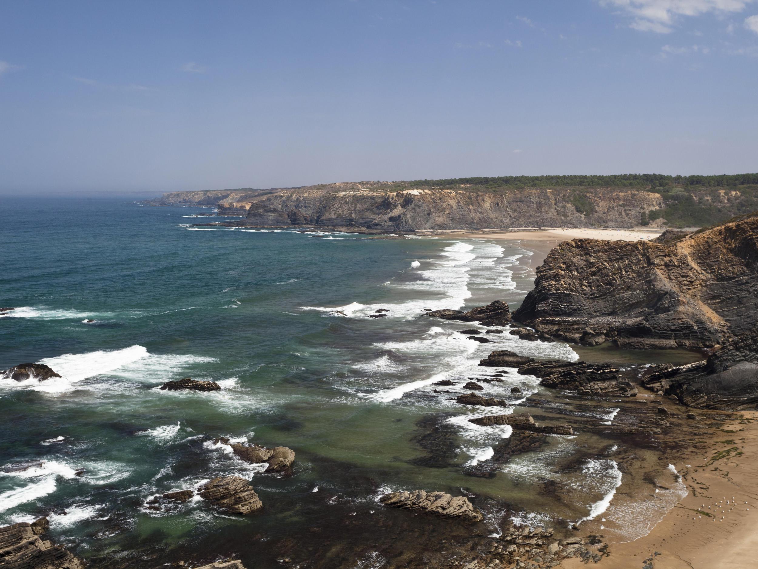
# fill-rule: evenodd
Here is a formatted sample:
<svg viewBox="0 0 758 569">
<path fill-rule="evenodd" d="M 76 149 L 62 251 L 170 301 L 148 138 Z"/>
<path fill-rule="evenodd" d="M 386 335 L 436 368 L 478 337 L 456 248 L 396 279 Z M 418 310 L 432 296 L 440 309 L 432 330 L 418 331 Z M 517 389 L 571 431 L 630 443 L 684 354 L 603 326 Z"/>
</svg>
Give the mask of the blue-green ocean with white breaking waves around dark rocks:
<svg viewBox="0 0 758 569">
<path fill-rule="evenodd" d="M 408 515 L 378 504 L 393 489 L 469 495 L 493 535 L 503 523 L 602 519 L 619 539 L 646 533 L 683 491 L 674 478 L 640 513 L 645 505 L 631 496 L 641 474 L 622 473 L 615 458 L 632 451 L 592 434 L 550 436 L 493 477 L 466 473 L 511 435 L 469 418 L 534 412 L 530 395 L 547 401 L 542 417 L 565 420 L 566 408 L 515 369 L 484 383 L 483 395 L 513 402 L 494 412 L 462 408 L 434 382 L 483 376 L 477 364 L 496 349 L 580 356 L 507 327 L 480 344 L 459 333 L 476 325 L 424 309 L 499 299 L 514 310 L 546 244 L 193 227 L 208 221 L 197 216 L 204 212 L 115 199 L 2 204 L 0 306 L 14 310 L 0 317 L 0 369 L 39 362 L 63 377 L 0 380 L 0 522 L 47 515 L 55 541 L 97 567 L 231 555 L 280 567 L 283 548 L 313 560 L 334 544 L 340 554 L 324 567 L 381 567 L 397 545 L 376 528 Z M 368 318 L 380 309 L 386 317 Z M 592 354 L 611 352 L 582 357 Z M 616 357 L 642 363 L 655 354 Z M 159 388 L 184 377 L 221 391 Z M 522 389 L 518 399 L 512 387 Z M 571 412 L 622 420 L 609 402 Z M 292 448 L 293 476 L 236 459 L 214 442 L 220 436 Z M 660 466 L 653 451 L 634 452 Z M 154 495 L 229 474 L 252 481 L 261 514 L 230 517 L 199 499 L 149 508 Z M 644 523 L 622 530 L 633 502 Z M 453 531 L 419 523 L 428 536 Z"/>
</svg>

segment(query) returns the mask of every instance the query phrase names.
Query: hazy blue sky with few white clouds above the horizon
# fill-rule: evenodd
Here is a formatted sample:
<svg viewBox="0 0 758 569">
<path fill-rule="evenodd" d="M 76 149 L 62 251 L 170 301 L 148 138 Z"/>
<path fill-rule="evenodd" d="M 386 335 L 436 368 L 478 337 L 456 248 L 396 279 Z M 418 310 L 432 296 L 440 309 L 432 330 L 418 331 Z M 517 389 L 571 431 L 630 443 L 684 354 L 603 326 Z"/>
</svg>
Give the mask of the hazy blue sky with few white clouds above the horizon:
<svg viewBox="0 0 758 569">
<path fill-rule="evenodd" d="M 0 3 L 0 193 L 758 171 L 758 0 Z"/>
</svg>

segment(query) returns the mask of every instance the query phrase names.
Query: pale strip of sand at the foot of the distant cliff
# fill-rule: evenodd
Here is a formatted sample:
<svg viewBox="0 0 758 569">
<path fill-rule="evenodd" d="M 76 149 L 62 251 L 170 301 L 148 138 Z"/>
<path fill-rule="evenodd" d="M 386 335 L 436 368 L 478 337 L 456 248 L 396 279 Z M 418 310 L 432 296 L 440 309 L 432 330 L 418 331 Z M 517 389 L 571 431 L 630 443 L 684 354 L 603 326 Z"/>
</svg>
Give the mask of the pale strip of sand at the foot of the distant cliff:
<svg viewBox="0 0 758 569">
<path fill-rule="evenodd" d="M 488 239 L 531 239 L 535 241 L 565 241 L 571 239 L 640 241 L 658 237 L 662 232 L 662 229 L 515 228 L 502 230 L 487 229 L 482 231 L 443 231 L 430 234 L 433 234 L 435 237 L 487 237 Z"/>
</svg>

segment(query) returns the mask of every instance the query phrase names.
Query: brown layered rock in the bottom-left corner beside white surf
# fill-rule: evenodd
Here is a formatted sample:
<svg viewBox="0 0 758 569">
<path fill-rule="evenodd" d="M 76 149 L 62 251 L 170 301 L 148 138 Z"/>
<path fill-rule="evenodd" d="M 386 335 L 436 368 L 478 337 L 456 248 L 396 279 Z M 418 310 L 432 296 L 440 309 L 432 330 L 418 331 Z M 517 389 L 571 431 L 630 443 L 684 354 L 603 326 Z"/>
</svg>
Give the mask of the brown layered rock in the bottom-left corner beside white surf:
<svg viewBox="0 0 758 569">
<path fill-rule="evenodd" d="M 0 567 L 3 569 L 84 569 L 82 561 L 60 545 L 40 539 L 47 518 L 34 523 L 0 527 Z"/>
</svg>

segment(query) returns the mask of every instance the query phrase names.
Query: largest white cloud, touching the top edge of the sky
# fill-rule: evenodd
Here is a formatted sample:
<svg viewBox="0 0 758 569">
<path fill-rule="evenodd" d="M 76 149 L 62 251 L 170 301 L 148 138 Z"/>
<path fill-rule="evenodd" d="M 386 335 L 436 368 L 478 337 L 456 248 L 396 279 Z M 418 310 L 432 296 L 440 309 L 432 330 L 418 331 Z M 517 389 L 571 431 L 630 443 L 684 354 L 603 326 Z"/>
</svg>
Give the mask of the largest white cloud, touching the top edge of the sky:
<svg viewBox="0 0 758 569">
<path fill-rule="evenodd" d="M 756 0 L 598 0 L 601 6 L 621 8 L 634 17 L 629 27 L 669 33 L 680 16 L 741 12 Z"/>
</svg>

